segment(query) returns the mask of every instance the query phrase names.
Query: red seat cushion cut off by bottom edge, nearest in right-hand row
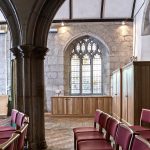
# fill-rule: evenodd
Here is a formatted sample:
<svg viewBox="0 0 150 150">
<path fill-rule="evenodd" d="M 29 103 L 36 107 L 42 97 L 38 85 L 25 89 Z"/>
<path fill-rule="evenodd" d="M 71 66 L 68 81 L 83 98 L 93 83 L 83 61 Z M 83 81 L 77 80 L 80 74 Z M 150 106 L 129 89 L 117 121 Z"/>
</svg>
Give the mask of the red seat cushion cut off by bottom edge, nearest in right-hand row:
<svg viewBox="0 0 150 150">
<path fill-rule="evenodd" d="M 89 140 L 78 143 L 79 150 L 113 150 L 106 140 Z"/>
</svg>

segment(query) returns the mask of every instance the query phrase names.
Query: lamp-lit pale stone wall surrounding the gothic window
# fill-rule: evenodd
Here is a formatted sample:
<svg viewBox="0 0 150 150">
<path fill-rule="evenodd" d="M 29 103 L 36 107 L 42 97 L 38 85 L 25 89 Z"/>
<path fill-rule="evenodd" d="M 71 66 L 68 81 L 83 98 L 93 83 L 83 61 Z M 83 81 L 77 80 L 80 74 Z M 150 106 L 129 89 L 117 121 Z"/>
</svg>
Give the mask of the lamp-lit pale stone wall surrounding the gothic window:
<svg viewBox="0 0 150 150">
<path fill-rule="evenodd" d="M 49 33 L 47 47 L 50 49 L 45 59 L 45 110 L 51 111 L 51 96 L 56 90 L 64 94 L 64 54 L 69 43 L 74 39 L 91 35 L 107 46 L 109 51 L 109 81 L 112 71 L 127 64 L 133 53 L 133 24 L 120 22 L 102 23 L 68 23 L 64 27 L 52 24 L 58 28 L 57 33 Z M 69 79 L 68 79 L 69 80 Z"/>
</svg>

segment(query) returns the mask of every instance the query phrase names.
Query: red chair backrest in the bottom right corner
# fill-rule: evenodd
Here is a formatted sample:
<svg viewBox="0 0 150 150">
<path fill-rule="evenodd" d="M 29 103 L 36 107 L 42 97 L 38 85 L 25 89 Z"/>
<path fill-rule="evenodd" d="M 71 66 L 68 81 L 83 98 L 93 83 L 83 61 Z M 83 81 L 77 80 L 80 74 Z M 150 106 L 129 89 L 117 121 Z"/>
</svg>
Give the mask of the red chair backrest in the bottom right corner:
<svg viewBox="0 0 150 150">
<path fill-rule="evenodd" d="M 131 150 L 150 150 L 150 143 L 142 137 L 136 135 L 133 139 Z"/>
</svg>

